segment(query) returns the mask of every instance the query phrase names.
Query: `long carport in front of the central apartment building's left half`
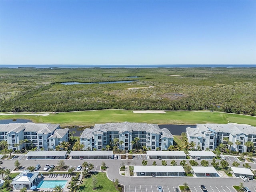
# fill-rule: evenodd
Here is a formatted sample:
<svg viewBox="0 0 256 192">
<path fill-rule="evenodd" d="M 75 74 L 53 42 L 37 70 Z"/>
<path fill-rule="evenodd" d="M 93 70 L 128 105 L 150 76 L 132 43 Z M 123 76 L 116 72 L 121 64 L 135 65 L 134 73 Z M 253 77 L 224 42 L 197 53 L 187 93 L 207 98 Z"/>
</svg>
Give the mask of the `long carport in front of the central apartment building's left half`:
<svg viewBox="0 0 256 192">
<path fill-rule="evenodd" d="M 113 151 L 71 151 L 70 156 L 84 159 L 104 159 L 113 156 Z"/>
</svg>

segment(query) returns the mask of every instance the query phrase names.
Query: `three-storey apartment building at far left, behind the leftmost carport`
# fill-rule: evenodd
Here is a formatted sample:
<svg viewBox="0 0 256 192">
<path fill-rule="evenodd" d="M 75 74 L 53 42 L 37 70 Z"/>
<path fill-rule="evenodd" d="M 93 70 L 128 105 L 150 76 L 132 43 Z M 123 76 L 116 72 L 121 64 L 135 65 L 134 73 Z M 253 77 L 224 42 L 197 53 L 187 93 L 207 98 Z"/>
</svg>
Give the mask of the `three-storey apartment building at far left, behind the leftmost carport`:
<svg viewBox="0 0 256 192">
<path fill-rule="evenodd" d="M 7 141 L 8 149 L 21 150 L 28 140 L 27 147 L 36 147 L 38 150 L 55 149 L 62 141 L 68 141 L 69 129 L 60 129 L 59 124 L 10 123 L 0 124 L 0 142 Z"/>
</svg>

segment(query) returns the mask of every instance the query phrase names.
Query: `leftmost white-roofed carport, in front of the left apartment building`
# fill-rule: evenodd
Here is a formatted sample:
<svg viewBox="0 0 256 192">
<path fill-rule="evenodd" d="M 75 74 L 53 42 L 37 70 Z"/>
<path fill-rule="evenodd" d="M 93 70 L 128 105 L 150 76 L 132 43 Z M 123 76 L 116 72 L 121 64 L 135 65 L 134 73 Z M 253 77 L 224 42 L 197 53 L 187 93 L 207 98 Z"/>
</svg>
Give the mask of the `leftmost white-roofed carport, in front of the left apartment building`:
<svg viewBox="0 0 256 192">
<path fill-rule="evenodd" d="M 30 151 L 25 156 L 35 157 L 36 159 L 46 159 L 50 157 L 66 157 L 67 152 L 66 151 Z"/>
</svg>

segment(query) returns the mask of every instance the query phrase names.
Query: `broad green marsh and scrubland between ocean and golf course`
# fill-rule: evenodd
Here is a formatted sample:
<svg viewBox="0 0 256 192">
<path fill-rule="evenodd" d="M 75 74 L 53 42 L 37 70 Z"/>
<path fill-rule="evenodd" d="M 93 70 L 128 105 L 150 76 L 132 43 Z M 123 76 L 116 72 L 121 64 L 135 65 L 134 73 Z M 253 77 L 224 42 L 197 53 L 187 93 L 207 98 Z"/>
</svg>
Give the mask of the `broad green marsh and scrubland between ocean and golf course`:
<svg viewBox="0 0 256 192">
<path fill-rule="evenodd" d="M 256 68 L 1 68 L 0 79 L 1 112 L 127 109 L 256 114 Z M 60 84 L 120 80 L 136 81 Z"/>
</svg>

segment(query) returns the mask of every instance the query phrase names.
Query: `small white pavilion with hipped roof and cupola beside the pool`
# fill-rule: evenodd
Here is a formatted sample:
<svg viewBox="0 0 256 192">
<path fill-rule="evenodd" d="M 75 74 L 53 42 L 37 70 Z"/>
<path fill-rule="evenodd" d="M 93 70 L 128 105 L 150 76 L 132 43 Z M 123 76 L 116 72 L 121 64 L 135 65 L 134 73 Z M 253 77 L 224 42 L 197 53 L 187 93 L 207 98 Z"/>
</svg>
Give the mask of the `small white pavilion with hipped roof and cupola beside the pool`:
<svg viewBox="0 0 256 192">
<path fill-rule="evenodd" d="M 11 182 L 14 190 L 20 190 L 24 187 L 30 189 L 32 186 L 37 185 L 38 174 L 39 172 L 30 172 L 29 170 L 24 170 Z"/>
</svg>

